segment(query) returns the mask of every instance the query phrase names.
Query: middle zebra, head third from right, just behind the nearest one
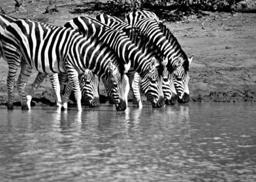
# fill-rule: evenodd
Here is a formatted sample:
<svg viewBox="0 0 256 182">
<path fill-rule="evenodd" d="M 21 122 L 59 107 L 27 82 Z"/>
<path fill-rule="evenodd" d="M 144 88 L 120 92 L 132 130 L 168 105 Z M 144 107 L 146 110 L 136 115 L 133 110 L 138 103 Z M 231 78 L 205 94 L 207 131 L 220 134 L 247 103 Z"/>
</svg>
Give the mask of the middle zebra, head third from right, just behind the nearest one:
<svg viewBox="0 0 256 182">
<path fill-rule="evenodd" d="M 161 65 L 155 58 L 148 57 L 136 47 L 124 31 L 112 29 L 97 19 L 89 17 L 78 17 L 71 19 L 64 25 L 72 27 L 84 33 L 84 36 L 97 36 L 110 49 L 118 54 L 124 63 L 130 63 L 131 68 L 142 78 L 141 90 L 146 95 L 152 107 L 163 107 L 163 88 L 161 80 Z M 127 30 L 129 31 L 129 30 Z M 129 70 L 129 69 L 128 69 Z"/>
</svg>

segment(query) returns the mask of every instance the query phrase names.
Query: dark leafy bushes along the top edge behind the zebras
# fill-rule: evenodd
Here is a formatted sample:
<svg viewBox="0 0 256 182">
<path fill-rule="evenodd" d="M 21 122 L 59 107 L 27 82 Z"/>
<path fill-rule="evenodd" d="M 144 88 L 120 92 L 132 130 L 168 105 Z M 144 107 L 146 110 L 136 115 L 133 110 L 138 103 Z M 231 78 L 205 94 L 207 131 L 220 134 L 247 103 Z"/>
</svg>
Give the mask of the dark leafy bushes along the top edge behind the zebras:
<svg viewBox="0 0 256 182">
<path fill-rule="evenodd" d="M 157 15 L 163 16 L 160 18 L 168 17 L 176 21 L 202 11 L 232 12 L 239 1 L 241 0 L 111 0 L 108 1 L 108 13 L 118 15 L 131 10 L 148 9 L 159 12 Z"/>
</svg>

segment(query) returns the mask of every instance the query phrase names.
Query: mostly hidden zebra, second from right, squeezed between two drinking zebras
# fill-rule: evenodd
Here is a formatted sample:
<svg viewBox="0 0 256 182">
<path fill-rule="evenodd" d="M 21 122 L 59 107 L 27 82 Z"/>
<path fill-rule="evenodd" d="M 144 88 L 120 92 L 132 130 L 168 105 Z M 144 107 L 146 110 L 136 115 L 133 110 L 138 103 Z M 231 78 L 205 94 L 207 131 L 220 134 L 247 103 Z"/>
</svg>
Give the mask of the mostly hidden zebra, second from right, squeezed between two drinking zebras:
<svg viewBox="0 0 256 182">
<path fill-rule="evenodd" d="M 133 41 L 138 48 L 140 48 L 148 58 L 156 57 L 159 62 L 161 62 L 162 58 L 161 55 L 157 55 L 157 52 L 155 52 L 154 47 L 152 44 L 149 44 L 146 37 L 143 36 L 143 34 L 140 34 L 140 32 L 136 29 L 133 29 L 131 25 L 128 25 L 127 23 L 123 22 L 121 19 L 116 18 L 114 16 L 109 16 L 107 14 L 99 14 L 95 17 L 102 23 L 108 25 L 109 27 L 112 27 L 113 29 L 118 30 L 125 30 L 125 29 L 132 29 L 133 31 L 127 31 L 127 36 Z M 134 72 L 133 72 L 134 73 Z M 165 103 L 167 104 L 174 104 L 176 102 L 176 90 L 174 88 L 173 79 L 171 75 L 168 75 L 167 68 L 164 67 L 163 71 L 163 94 L 165 98 Z M 139 77 L 138 74 L 135 73 L 133 75 L 132 73 L 129 74 L 129 80 L 131 88 L 133 89 L 133 94 L 135 96 L 136 102 L 139 105 L 142 105 L 140 103 L 140 90 L 139 88 L 136 88 L 138 86 Z M 140 106 L 139 106 L 140 107 Z"/>
</svg>

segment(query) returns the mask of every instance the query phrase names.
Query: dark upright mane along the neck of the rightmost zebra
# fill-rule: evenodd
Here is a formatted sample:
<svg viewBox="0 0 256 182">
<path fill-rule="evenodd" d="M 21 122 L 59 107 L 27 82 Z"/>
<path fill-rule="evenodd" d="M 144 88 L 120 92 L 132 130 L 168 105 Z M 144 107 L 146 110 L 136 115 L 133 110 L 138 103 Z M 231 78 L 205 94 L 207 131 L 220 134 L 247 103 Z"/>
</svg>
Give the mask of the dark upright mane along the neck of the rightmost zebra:
<svg viewBox="0 0 256 182">
<path fill-rule="evenodd" d="M 155 19 L 155 21 L 157 21 L 157 20 Z M 189 71 L 189 61 L 187 59 L 187 55 L 185 54 L 184 50 L 182 49 L 182 46 L 179 44 L 177 38 L 172 34 L 172 32 L 170 32 L 170 29 L 168 29 L 167 25 L 165 25 L 163 23 L 163 21 L 157 21 L 157 23 L 159 25 L 159 29 L 161 30 L 161 32 L 163 32 L 163 34 L 167 38 L 168 42 L 170 42 L 170 44 L 178 45 L 178 47 L 180 48 L 180 50 L 182 52 L 182 57 L 184 59 L 183 67 L 184 67 L 185 71 Z"/>
</svg>

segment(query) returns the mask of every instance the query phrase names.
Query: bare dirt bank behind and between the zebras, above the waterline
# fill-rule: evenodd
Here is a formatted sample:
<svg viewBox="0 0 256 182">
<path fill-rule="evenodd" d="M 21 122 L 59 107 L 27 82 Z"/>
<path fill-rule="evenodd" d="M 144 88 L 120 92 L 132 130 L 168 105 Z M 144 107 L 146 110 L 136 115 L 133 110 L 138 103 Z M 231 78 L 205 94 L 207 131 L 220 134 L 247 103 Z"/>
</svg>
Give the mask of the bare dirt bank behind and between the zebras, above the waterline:
<svg viewBox="0 0 256 182">
<path fill-rule="evenodd" d="M 101 11 L 91 10 L 81 1 L 57 1 L 58 12 L 44 14 L 48 1 L 25 1 L 19 12 L 10 16 L 44 19 L 52 25 L 63 25 L 76 16 L 95 16 Z M 4 0 L 0 6 L 11 12 L 14 2 Z M 86 12 L 86 13 L 85 13 Z M 190 101 L 255 102 L 256 101 L 256 14 L 208 12 L 192 15 L 184 21 L 167 22 L 169 29 L 188 56 L 193 55 L 189 82 Z M 7 101 L 7 63 L 1 59 L 0 104 Z M 33 82 L 33 73 L 29 83 Z M 29 85 L 29 84 L 28 84 Z M 102 101 L 106 93 L 100 87 Z M 18 94 L 14 97 L 18 105 Z M 49 79 L 46 79 L 34 96 L 36 105 L 54 104 Z"/>
</svg>

